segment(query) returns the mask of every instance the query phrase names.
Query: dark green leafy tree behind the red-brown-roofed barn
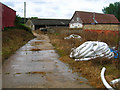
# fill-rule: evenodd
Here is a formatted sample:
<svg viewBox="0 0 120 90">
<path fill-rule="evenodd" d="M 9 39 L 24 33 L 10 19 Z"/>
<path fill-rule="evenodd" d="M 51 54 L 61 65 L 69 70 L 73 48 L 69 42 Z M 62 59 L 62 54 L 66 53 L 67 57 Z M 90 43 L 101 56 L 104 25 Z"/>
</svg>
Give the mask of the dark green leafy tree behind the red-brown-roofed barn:
<svg viewBox="0 0 120 90">
<path fill-rule="evenodd" d="M 110 3 L 108 7 L 102 9 L 104 14 L 113 14 L 120 21 L 120 2 Z"/>
</svg>

